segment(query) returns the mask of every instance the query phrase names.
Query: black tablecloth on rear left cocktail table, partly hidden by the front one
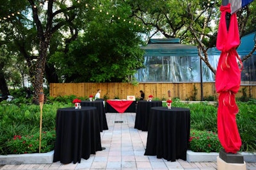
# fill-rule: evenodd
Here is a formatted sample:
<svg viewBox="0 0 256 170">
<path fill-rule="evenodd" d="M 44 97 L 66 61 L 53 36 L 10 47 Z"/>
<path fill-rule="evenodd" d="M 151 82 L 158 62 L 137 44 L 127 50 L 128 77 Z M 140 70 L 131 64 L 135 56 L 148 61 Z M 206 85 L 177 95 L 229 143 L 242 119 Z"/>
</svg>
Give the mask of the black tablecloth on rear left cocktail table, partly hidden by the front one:
<svg viewBox="0 0 256 170">
<path fill-rule="evenodd" d="M 108 123 L 106 120 L 106 112 L 105 112 L 105 107 L 103 104 L 103 101 L 100 100 L 95 100 L 93 102 L 90 101 L 82 101 L 81 102 L 81 106 L 92 106 L 92 107 L 96 107 L 99 113 L 99 123 L 100 123 L 100 132 L 102 132 L 102 130 L 108 130 Z"/>
</svg>

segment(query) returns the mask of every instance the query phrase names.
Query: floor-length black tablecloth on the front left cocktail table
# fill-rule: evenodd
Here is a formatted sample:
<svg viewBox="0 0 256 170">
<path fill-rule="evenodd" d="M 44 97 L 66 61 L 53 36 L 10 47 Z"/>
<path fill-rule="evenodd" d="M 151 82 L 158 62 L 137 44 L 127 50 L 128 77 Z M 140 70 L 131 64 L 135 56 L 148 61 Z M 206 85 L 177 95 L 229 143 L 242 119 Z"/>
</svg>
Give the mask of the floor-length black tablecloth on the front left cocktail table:
<svg viewBox="0 0 256 170">
<path fill-rule="evenodd" d="M 58 109 L 53 162 L 81 162 L 102 150 L 99 116 L 96 107 Z"/>
</svg>

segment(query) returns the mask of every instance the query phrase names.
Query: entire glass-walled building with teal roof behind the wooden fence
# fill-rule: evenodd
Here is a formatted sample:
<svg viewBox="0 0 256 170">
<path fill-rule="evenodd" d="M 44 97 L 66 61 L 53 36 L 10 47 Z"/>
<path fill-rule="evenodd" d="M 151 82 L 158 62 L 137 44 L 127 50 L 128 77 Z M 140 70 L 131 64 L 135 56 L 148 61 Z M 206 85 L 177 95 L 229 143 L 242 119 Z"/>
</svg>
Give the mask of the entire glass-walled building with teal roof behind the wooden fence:
<svg viewBox="0 0 256 170">
<path fill-rule="evenodd" d="M 252 43 L 254 45 L 254 42 Z M 248 47 L 248 45 L 245 46 Z M 243 48 L 243 43 L 240 47 Z M 215 81 L 214 73 L 203 61 L 200 63 L 197 48 L 192 45 L 181 44 L 179 38 L 150 39 L 148 44 L 141 49 L 145 50 L 145 67 L 140 68 L 135 75 L 138 82 L 200 82 L 201 71 L 203 82 Z M 247 51 L 244 49 L 240 54 L 239 49 L 237 49 L 242 58 L 243 55 L 250 52 Z M 209 62 L 216 69 L 220 51 L 214 48 L 210 49 L 208 54 Z M 248 83 L 249 81 L 249 84 L 253 84 L 252 82 L 256 82 L 256 59 L 252 56 L 243 64 L 242 82 Z"/>
</svg>

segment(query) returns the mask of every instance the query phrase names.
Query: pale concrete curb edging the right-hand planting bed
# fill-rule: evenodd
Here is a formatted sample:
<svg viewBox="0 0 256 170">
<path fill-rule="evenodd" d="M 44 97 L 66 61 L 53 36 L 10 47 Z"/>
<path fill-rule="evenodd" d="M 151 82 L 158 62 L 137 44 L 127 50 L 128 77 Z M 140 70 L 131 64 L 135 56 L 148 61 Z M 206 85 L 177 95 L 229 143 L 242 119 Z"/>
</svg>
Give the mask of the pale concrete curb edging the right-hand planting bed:
<svg viewBox="0 0 256 170">
<path fill-rule="evenodd" d="M 256 153 L 241 152 L 245 162 L 256 162 Z M 187 151 L 188 162 L 217 162 L 217 152 L 194 152 L 191 150 Z"/>
</svg>

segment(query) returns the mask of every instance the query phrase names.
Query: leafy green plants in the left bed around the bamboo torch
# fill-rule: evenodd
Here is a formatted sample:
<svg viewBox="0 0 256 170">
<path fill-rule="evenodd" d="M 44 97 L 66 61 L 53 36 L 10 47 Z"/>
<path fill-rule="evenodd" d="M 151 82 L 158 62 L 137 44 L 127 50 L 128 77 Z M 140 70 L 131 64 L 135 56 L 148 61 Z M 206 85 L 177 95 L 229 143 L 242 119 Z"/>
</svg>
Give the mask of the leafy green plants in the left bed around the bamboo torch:
<svg viewBox="0 0 256 170">
<path fill-rule="evenodd" d="M 58 108 L 71 107 L 71 106 L 72 106 L 72 103 L 63 104 L 60 102 L 54 102 L 52 104 L 44 104 L 43 116 L 42 116 L 43 118 L 42 131 L 48 132 L 55 128 L 56 111 Z M 27 135 L 36 136 L 36 134 L 39 132 L 40 130 L 39 129 L 40 128 L 39 105 L 26 105 L 26 104 L 0 105 L 0 127 L 1 127 L 0 128 L 0 155 L 10 154 L 10 150 L 8 146 L 6 146 L 6 142 L 10 141 L 10 139 L 13 139 L 13 136 L 15 135 L 22 136 L 22 137 L 26 137 Z M 45 140 L 47 141 L 48 137 L 46 138 L 47 139 Z M 36 141 L 34 143 L 36 143 Z M 34 143 L 33 143 L 33 146 L 35 146 Z M 47 142 L 47 145 L 48 144 L 49 142 Z M 48 146 L 45 146 L 45 148 L 48 148 Z M 23 151 L 26 151 L 26 150 L 23 150 Z M 44 149 L 42 151 L 44 151 Z"/>
</svg>

